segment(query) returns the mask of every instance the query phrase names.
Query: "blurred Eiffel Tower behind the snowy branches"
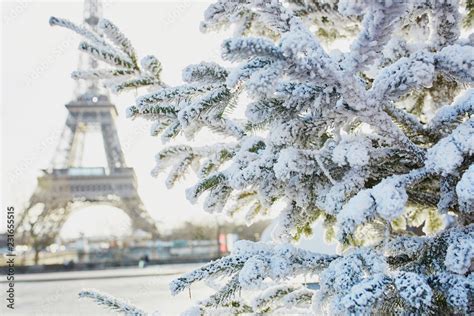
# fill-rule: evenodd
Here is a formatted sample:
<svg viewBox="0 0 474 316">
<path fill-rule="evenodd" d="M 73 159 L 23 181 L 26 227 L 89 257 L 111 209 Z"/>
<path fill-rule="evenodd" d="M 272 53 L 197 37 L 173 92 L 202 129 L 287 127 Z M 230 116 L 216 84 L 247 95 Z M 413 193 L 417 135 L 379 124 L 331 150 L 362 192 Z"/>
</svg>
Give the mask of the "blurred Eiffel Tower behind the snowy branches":
<svg viewBox="0 0 474 316">
<path fill-rule="evenodd" d="M 95 29 L 100 11 L 98 0 L 86 0 L 85 26 Z M 97 62 L 89 59 L 89 66 L 96 68 Z M 79 84 L 78 90 L 81 90 Z M 66 104 L 69 114 L 52 167 L 42 170 L 36 190 L 20 215 L 17 238 L 33 247 L 35 261 L 38 252 L 56 240 L 77 206 L 117 207 L 130 217 L 132 229 L 148 232 L 153 238 L 158 235 L 154 220 L 138 195 L 135 172 L 125 164 L 115 127 L 115 105 L 106 94 L 100 93 L 96 81 L 91 81 L 83 90 L 82 93 L 77 91 L 75 100 Z M 84 139 L 90 131 L 102 134 L 106 167 L 81 167 Z"/>
</svg>

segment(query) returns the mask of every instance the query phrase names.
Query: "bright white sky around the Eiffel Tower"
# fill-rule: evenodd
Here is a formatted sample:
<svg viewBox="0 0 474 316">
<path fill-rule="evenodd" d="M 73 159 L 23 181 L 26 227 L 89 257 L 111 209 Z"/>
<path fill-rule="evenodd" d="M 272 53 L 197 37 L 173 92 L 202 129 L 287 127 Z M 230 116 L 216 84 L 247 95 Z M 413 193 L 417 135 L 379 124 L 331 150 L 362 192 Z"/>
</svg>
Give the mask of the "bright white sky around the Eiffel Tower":
<svg viewBox="0 0 474 316">
<path fill-rule="evenodd" d="M 35 188 L 39 170 L 48 167 L 54 153 L 67 116 L 64 105 L 73 98 L 70 72 L 77 67 L 79 37 L 50 27 L 48 19 L 54 15 L 80 22 L 82 5 L 82 1 L 2 2 L 2 212 L 9 205 L 21 210 Z M 181 70 L 188 64 L 219 60 L 225 34 L 199 32 L 206 7 L 203 1 L 108 0 L 104 16 L 130 38 L 139 56 L 158 57 L 164 66 L 165 82 L 178 84 Z M 150 214 L 162 227 L 190 219 L 214 222 L 200 205 L 191 205 L 185 199 L 184 190 L 193 183 L 194 175 L 171 190 L 164 185 L 166 175 L 158 179 L 150 176 L 154 156 L 163 145 L 159 138 L 149 136 L 148 122 L 125 118 L 125 108 L 135 97 L 129 93 L 112 96 L 112 100 L 120 115 L 117 128 L 125 158 L 135 168 L 139 193 Z M 126 216 L 116 210 L 90 208 L 73 214 L 63 234 L 116 232 L 127 222 Z"/>
</svg>

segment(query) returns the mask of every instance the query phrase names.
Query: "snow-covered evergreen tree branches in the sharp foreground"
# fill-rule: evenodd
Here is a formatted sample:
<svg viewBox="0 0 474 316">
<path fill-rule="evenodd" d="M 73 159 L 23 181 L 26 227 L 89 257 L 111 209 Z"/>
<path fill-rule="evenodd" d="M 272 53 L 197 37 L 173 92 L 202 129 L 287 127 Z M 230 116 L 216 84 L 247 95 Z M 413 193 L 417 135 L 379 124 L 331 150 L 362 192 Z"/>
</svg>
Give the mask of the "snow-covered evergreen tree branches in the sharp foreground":
<svg viewBox="0 0 474 316">
<path fill-rule="evenodd" d="M 198 314 L 472 313 L 472 1 L 219 0 L 204 16 L 204 32 L 233 28 L 222 43 L 233 67 L 190 65 L 179 86 L 112 22 L 50 20 L 108 65 L 74 78 L 148 88 L 127 115 L 164 143 L 190 140 L 159 152 L 153 174 L 169 169 L 171 187 L 195 170 L 186 196 L 211 213 L 279 212 L 272 242 L 239 242 L 172 294 L 220 280 Z M 192 145 L 202 129 L 215 144 Z M 338 255 L 294 245 L 317 220 Z"/>
</svg>

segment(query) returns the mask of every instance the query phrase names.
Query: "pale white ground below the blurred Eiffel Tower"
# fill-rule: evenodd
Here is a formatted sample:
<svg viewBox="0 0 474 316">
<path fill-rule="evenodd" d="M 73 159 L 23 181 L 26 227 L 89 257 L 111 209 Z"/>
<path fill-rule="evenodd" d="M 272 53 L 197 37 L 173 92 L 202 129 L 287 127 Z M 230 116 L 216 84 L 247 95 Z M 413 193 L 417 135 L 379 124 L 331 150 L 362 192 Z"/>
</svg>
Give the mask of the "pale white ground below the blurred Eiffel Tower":
<svg viewBox="0 0 474 316">
<path fill-rule="evenodd" d="M 158 310 L 161 315 L 179 315 L 192 302 L 212 293 L 205 284 L 193 286 L 172 297 L 168 283 L 196 264 L 152 266 L 146 269 L 114 269 L 18 275 L 15 284 L 15 311 L 6 309 L 7 285 L 1 280 L 0 314 L 5 315 L 114 315 L 88 299 L 78 299 L 83 288 L 95 288 L 125 298 L 146 311 Z"/>
</svg>

